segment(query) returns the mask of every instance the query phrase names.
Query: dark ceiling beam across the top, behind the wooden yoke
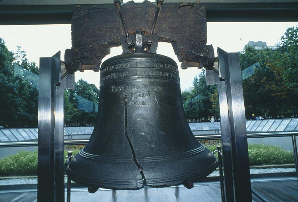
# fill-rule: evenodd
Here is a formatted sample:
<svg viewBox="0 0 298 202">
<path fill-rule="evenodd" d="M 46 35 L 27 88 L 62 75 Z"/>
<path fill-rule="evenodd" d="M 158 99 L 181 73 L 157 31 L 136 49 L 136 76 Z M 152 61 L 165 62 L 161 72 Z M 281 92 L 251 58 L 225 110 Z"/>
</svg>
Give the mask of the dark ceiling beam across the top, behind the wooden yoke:
<svg viewBox="0 0 298 202">
<path fill-rule="evenodd" d="M 21 24 L 69 24 L 76 5 L 9 5 L 0 1 L 0 25 Z M 40 2 L 40 1 L 39 1 Z M 43 1 L 44 2 L 44 1 Z M 82 2 L 82 1 L 81 1 Z M 84 2 L 84 1 L 83 1 Z M 166 2 L 166 1 L 165 1 Z M 178 4 L 175 1 L 168 1 Z M 275 22 L 298 21 L 298 2 L 264 1 L 267 3 L 239 3 L 239 1 L 201 1 L 206 7 L 209 22 Z M 238 2 L 238 3 L 230 3 Z M 262 2 L 262 1 L 258 1 Z M 113 7 L 109 3 L 98 4 L 100 8 Z M 92 8 L 93 4 L 83 4 Z"/>
</svg>

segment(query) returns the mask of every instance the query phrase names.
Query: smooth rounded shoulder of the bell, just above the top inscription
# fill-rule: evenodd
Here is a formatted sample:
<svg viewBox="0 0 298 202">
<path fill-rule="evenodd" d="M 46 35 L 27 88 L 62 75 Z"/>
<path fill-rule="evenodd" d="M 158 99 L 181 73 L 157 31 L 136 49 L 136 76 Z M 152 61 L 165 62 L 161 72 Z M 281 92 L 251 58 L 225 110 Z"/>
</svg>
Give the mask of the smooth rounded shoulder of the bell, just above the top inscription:
<svg viewBox="0 0 298 202">
<path fill-rule="evenodd" d="M 131 52 L 131 53 L 125 53 L 125 54 L 121 54 L 121 55 L 116 55 L 113 56 L 107 60 L 105 60 L 104 62 L 102 62 L 101 66 L 100 66 L 100 70 L 102 69 L 102 67 L 104 67 L 106 65 L 106 63 L 116 63 L 117 60 L 124 60 L 124 59 L 131 59 L 131 58 L 136 58 L 136 59 L 161 59 L 161 60 L 168 60 L 171 61 L 174 65 L 177 65 L 176 61 L 173 60 L 172 58 L 165 56 L 165 55 L 161 55 L 161 54 L 157 54 L 157 53 L 147 53 L 147 52 Z"/>
</svg>

